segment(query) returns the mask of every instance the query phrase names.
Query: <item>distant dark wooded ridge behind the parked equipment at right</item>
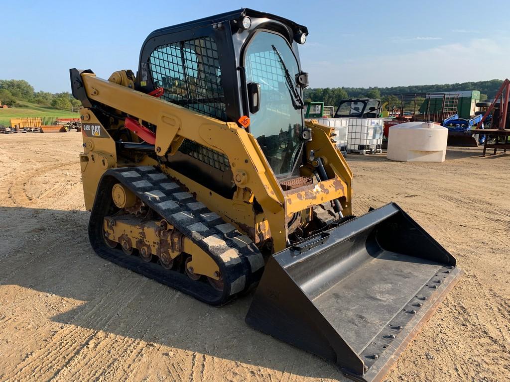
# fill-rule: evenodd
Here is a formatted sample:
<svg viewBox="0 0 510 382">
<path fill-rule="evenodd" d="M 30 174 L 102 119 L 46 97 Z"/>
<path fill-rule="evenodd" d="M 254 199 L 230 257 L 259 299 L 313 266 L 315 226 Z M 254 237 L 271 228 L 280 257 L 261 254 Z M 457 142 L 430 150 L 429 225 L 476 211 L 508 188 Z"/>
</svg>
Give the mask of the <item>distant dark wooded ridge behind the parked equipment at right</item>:
<svg viewBox="0 0 510 382">
<path fill-rule="evenodd" d="M 456 84 L 394 86 L 386 88 L 310 88 L 303 92 L 305 102 L 324 102 L 326 105 L 337 106 L 346 98 L 374 98 L 386 101 L 392 94 L 402 93 L 442 93 L 460 92 L 464 90 L 478 90 L 480 100 L 493 99 L 503 81 L 491 79 L 488 81 L 464 82 Z"/>
</svg>

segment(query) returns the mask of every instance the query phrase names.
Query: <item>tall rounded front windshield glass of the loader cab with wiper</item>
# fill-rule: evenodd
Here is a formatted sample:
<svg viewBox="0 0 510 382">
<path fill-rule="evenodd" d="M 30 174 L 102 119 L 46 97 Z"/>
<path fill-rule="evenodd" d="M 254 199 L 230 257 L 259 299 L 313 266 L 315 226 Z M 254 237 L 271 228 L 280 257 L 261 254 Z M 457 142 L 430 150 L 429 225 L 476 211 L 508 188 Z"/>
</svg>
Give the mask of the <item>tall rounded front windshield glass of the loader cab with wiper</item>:
<svg viewBox="0 0 510 382">
<path fill-rule="evenodd" d="M 289 89 L 285 68 L 292 78 Z M 246 82 L 260 84 L 260 110 L 250 114 L 250 132 L 276 176 L 292 174 L 300 159 L 302 142 L 301 108 L 294 107 L 295 75 L 299 67 L 290 46 L 283 37 L 259 32 L 245 53 Z"/>
</svg>

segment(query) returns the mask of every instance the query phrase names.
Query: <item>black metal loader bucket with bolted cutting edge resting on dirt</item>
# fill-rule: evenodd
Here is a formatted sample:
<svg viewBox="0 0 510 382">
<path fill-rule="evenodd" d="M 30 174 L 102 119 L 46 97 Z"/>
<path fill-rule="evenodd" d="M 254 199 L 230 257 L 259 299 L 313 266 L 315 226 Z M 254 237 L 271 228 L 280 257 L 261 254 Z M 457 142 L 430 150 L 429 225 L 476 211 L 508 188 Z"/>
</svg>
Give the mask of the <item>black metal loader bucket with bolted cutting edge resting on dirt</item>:
<svg viewBox="0 0 510 382">
<path fill-rule="evenodd" d="M 379 381 L 460 274 L 390 203 L 270 257 L 246 322 Z"/>
</svg>

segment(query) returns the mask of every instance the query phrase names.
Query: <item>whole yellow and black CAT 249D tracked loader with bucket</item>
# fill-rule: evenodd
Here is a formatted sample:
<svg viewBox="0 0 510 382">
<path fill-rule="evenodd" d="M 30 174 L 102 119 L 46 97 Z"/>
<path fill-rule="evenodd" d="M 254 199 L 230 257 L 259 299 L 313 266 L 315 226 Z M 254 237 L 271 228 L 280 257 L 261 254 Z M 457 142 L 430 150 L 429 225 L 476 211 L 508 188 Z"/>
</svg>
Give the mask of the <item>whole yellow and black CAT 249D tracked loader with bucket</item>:
<svg viewBox="0 0 510 382">
<path fill-rule="evenodd" d="M 308 30 L 241 9 L 152 32 L 138 72 L 70 69 L 89 238 L 110 261 L 380 380 L 460 275 L 396 204 L 351 215 L 333 129 L 303 122 Z"/>
</svg>

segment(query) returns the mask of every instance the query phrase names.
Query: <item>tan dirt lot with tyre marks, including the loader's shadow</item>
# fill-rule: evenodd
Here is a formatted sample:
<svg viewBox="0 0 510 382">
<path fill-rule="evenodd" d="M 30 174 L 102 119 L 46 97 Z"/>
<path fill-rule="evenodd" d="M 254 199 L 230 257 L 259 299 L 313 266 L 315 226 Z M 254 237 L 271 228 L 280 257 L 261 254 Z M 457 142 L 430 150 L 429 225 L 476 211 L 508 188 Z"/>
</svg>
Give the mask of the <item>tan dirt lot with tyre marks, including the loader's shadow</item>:
<svg viewBox="0 0 510 382">
<path fill-rule="evenodd" d="M 250 329 L 250 296 L 212 308 L 96 256 L 81 134 L 0 135 L 0 381 L 335 381 Z M 510 155 L 348 157 L 354 213 L 395 201 L 465 270 L 388 381 L 510 380 Z"/>
</svg>

